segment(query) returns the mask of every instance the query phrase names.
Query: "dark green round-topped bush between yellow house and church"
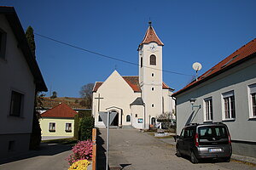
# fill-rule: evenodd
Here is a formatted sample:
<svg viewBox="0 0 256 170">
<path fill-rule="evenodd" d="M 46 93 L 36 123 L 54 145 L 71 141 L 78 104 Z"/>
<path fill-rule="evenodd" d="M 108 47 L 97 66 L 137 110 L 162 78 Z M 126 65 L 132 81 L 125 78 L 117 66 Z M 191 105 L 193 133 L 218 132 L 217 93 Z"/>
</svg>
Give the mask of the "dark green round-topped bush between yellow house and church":
<svg viewBox="0 0 256 170">
<path fill-rule="evenodd" d="M 94 118 L 85 116 L 79 122 L 79 140 L 91 139 L 92 128 L 94 127 Z"/>
</svg>

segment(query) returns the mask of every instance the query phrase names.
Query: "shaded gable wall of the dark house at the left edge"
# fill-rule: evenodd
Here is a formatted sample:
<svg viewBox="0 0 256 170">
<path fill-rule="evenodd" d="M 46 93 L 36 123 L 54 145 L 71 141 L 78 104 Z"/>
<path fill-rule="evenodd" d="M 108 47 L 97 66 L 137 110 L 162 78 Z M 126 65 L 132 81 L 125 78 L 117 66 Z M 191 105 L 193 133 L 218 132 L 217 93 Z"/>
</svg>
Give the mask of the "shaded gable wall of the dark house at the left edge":
<svg viewBox="0 0 256 170">
<path fill-rule="evenodd" d="M 14 145 L 24 144 L 19 146 L 20 149 L 17 147 L 17 151 L 28 150 L 36 86 L 26 59 L 17 48 L 15 35 L 3 15 L 0 15 L 0 28 L 7 35 L 5 57 L 0 58 L 0 156 L 7 156 L 9 141 L 14 141 Z M 23 95 L 20 116 L 9 116 L 13 90 Z"/>
</svg>

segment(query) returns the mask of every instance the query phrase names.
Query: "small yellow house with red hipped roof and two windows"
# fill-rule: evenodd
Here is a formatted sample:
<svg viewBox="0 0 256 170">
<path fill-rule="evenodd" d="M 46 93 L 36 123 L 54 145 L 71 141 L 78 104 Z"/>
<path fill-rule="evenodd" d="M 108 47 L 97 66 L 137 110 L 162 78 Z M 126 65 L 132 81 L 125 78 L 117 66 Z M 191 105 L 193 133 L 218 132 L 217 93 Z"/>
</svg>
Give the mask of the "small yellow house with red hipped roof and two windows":
<svg viewBox="0 0 256 170">
<path fill-rule="evenodd" d="M 62 103 L 41 114 L 42 139 L 62 139 L 73 137 L 74 116 L 77 114 Z"/>
</svg>

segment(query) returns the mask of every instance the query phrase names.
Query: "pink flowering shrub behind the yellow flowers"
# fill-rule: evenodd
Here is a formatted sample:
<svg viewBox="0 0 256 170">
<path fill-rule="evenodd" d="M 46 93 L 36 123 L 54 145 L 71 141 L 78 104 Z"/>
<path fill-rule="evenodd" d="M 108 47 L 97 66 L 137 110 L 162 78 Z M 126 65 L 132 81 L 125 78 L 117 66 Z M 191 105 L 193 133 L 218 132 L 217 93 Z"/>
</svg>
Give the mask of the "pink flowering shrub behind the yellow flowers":
<svg viewBox="0 0 256 170">
<path fill-rule="evenodd" d="M 92 141 L 91 140 L 84 140 L 79 141 L 78 144 L 73 146 L 72 149 L 73 153 L 69 155 L 67 161 L 69 165 L 72 165 L 73 162 L 79 160 L 91 160 L 92 157 Z"/>
</svg>

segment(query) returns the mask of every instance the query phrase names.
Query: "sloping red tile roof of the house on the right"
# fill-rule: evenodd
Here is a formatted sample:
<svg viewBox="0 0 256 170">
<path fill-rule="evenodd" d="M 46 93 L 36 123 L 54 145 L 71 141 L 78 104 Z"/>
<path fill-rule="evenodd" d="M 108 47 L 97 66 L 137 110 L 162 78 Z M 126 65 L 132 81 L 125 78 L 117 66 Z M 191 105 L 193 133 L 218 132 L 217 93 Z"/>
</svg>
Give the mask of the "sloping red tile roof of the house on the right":
<svg viewBox="0 0 256 170">
<path fill-rule="evenodd" d="M 198 77 L 198 81 L 190 82 L 187 86 L 177 91 L 172 96 L 177 96 L 178 94 L 182 94 L 183 92 L 189 90 L 190 88 L 195 87 L 201 82 L 206 82 L 212 77 L 218 76 L 220 73 L 233 68 L 236 65 L 241 64 L 243 61 L 247 59 L 251 59 L 256 56 L 256 38 L 253 41 L 248 42 L 246 45 L 237 49 L 236 52 L 230 54 L 227 58 L 220 61 L 217 65 L 213 66 L 210 70 L 206 71 L 201 77 Z"/>
</svg>

